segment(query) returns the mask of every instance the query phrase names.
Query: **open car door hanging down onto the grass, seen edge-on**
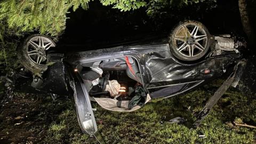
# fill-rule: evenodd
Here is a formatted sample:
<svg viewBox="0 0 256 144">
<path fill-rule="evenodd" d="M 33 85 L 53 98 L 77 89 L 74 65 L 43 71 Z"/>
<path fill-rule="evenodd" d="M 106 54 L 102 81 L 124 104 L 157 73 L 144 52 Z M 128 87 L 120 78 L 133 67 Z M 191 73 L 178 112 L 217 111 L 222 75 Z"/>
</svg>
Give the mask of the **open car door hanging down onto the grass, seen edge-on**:
<svg viewBox="0 0 256 144">
<path fill-rule="evenodd" d="M 93 115 L 89 93 L 86 90 L 85 83 L 78 73 L 74 74 L 73 78 L 74 99 L 79 125 L 84 133 L 94 135 L 98 129 Z"/>
</svg>

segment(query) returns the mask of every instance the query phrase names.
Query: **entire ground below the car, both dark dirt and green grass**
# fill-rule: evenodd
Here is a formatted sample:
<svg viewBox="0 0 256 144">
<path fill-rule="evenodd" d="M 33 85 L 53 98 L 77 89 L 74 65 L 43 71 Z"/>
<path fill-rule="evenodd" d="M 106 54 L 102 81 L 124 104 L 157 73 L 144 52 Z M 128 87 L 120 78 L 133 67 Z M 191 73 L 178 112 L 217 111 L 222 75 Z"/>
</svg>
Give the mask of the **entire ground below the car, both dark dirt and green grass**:
<svg viewBox="0 0 256 144">
<path fill-rule="evenodd" d="M 221 80 L 169 99 L 158 99 L 132 113 L 117 113 L 92 103 L 99 134 L 106 143 L 256 143 L 256 97 L 230 88 L 199 129 L 194 114 L 211 97 Z M 72 98 L 14 93 L 0 100 L 0 143 L 98 143 L 79 128 Z M 168 119 L 183 117 L 185 124 Z M 199 137 L 199 135 L 205 135 Z"/>
</svg>

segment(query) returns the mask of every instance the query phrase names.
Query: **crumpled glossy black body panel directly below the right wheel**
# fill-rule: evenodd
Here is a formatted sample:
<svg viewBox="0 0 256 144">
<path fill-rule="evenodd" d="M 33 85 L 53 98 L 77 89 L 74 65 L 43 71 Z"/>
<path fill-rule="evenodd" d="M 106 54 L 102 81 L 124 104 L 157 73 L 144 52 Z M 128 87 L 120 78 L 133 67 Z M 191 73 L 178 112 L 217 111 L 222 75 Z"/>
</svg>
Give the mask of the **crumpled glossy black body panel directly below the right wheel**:
<svg viewBox="0 0 256 144">
<path fill-rule="evenodd" d="M 154 52 L 146 61 L 146 68 L 151 76 L 150 83 L 170 82 L 183 83 L 220 76 L 234 63 L 230 56 L 206 59 L 195 64 L 177 62 L 169 51 Z M 205 74 L 204 70 L 210 70 Z"/>
</svg>

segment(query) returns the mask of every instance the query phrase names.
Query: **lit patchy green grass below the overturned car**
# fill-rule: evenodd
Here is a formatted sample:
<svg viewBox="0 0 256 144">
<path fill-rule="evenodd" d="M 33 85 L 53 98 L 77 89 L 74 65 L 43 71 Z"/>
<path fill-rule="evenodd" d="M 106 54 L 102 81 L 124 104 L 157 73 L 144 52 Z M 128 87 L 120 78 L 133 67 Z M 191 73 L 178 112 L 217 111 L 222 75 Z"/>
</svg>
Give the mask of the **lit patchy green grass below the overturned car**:
<svg viewBox="0 0 256 144">
<path fill-rule="evenodd" d="M 227 124 L 236 119 L 256 124 L 256 98 L 235 89 L 229 89 L 223 95 L 199 129 L 190 129 L 195 120 L 194 113 L 204 106 L 220 82 L 215 81 L 178 97 L 154 100 L 131 113 L 104 110 L 92 103 L 93 108 L 97 108 L 94 115 L 99 133 L 106 143 L 255 143 L 256 130 Z M 48 126 L 42 143 L 98 143 L 95 138 L 81 132 L 74 103 L 66 101 L 65 105 Z M 177 116 L 185 118 L 186 124 L 166 121 Z M 199 138 L 201 134 L 205 137 Z"/>
</svg>

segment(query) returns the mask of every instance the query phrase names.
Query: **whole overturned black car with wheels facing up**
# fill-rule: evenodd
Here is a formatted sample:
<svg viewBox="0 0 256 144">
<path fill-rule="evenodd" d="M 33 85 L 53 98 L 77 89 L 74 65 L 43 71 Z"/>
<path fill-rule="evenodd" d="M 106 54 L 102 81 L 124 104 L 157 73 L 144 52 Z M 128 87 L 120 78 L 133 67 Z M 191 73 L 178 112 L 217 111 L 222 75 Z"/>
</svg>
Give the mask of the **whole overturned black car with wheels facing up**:
<svg viewBox="0 0 256 144">
<path fill-rule="evenodd" d="M 79 125 L 91 135 L 97 132 L 91 101 L 108 110 L 133 111 L 151 99 L 173 97 L 228 75 L 198 114 L 198 126 L 229 85 L 239 85 L 246 65 L 240 52 L 244 41 L 230 35 L 212 36 L 196 21 L 179 23 L 160 43 L 68 54 L 50 52 L 55 46 L 43 35 L 31 35 L 21 44 L 18 57 L 34 75 L 28 78 L 29 84 L 19 86 L 53 97 L 74 95 Z"/>
</svg>

